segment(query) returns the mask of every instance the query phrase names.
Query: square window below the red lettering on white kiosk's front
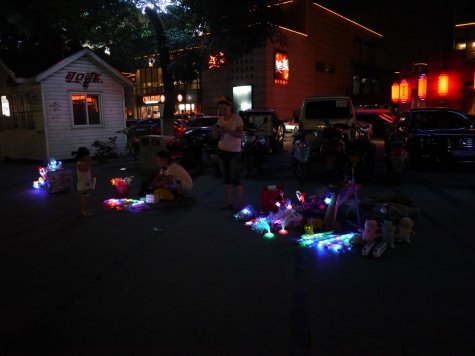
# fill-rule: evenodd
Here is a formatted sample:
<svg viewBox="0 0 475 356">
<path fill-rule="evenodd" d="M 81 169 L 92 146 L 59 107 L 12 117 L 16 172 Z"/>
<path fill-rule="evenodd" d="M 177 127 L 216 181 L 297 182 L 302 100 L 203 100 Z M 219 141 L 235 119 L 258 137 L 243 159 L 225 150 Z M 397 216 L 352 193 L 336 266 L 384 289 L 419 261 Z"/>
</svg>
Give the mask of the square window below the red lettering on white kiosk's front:
<svg viewBox="0 0 475 356">
<path fill-rule="evenodd" d="M 99 94 L 72 94 L 71 104 L 74 126 L 102 124 L 102 113 Z"/>
</svg>

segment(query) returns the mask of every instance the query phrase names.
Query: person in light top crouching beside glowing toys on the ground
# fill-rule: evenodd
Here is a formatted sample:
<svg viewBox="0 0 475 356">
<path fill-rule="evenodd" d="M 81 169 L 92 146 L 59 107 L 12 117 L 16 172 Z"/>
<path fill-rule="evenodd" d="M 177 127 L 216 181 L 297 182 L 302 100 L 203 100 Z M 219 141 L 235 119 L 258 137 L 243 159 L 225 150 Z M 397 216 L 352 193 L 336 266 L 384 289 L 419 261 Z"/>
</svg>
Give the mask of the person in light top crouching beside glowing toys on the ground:
<svg viewBox="0 0 475 356">
<path fill-rule="evenodd" d="M 179 200 L 184 193 L 193 188 L 193 179 L 190 174 L 178 163 L 172 162 L 168 151 L 159 151 L 155 159 L 160 166 L 160 171 L 151 183 L 153 191 L 157 192 L 160 199 Z"/>
</svg>

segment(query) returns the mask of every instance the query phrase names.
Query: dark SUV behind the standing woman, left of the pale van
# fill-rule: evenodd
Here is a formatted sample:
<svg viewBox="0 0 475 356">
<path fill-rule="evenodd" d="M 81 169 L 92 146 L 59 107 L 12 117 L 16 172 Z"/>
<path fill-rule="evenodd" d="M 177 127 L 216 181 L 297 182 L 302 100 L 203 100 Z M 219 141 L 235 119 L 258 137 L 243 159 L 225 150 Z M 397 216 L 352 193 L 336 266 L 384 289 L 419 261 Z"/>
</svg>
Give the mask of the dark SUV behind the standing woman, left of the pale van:
<svg viewBox="0 0 475 356">
<path fill-rule="evenodd" d="M 239 115 L 242 117 L 244 127 L 255 126 L 256 123 L 263 123 L 268 125 L 264 129 L 265 135 L 269 136 L 269 143 L 272 153 L 279 152 L 284 147 L 285 124 L 279 120 L 279 116 L 272 109 L 247 109 L 240 111 Z M 270 120 L 270 122 L 268 121 Z M 260 129 L 259 127 L 254 127 Z M 264 132 L 263 131 L 263 132 Z"/>
</svg>

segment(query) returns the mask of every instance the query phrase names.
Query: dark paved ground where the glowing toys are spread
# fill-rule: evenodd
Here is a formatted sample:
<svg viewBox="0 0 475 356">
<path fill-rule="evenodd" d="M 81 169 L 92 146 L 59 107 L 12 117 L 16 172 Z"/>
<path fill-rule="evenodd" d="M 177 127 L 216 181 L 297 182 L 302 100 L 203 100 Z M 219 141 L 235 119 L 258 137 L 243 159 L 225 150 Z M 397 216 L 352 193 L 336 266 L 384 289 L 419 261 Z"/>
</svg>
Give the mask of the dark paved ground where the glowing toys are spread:
<svg viewBox="0 0 475 356">
<path fill-rule="evenodd" d="M 288 145 L 245 180 L 249 204 L 267 185 L 293 197 L 328 183 L 297 182 Z M 376 259 L 301 247 L 298 229 L 263 238 L 220 209 L 212 169 L 182 202 L 132 213 L 103 201 L 129 175 L 137 197 L 136 163 L 96 166 L 84 218 L 76 192 L 31 188 L 36 164 L 0 162 L 0 354 L 472 355 L 474 171 L 392 186 L 378 164 L 360 201 L 404 196 L 420 215 L 412 243 Z"/>
</svg>

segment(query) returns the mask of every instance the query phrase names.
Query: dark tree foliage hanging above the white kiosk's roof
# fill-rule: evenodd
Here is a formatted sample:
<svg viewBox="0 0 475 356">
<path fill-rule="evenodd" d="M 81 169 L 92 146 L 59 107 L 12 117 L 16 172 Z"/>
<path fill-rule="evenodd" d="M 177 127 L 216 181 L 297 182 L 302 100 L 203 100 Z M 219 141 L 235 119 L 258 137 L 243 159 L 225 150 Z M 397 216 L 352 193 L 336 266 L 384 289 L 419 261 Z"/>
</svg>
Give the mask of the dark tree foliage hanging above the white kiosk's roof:
<svg viewBox="0 0 475 356">
<path fill-rule="evenodd" d="M 132 1 L 10 1 L 0 12 L 0 56 L 13 60 L 59 60 L 88 46 L 130 70 L 140 64 L 147 48 L 143 39 L 150 34 Z"/>
</svg>

